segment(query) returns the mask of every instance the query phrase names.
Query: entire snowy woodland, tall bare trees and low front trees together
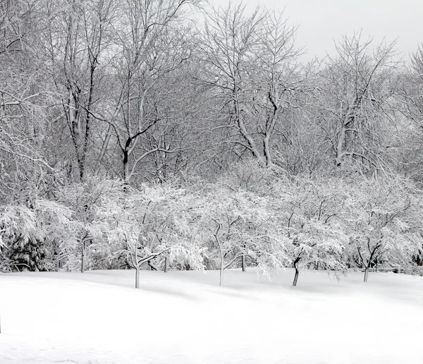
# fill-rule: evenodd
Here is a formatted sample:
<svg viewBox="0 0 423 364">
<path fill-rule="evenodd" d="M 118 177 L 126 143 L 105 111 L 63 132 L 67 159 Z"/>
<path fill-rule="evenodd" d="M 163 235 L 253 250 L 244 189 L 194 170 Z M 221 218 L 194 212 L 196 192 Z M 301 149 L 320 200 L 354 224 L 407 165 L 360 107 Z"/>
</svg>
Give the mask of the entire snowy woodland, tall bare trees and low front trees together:
<svg viewBox="0 0 423 364">
<path fill-rule="evenodd" d="M 423 274 L 423 46 L 289 14 L 0 1 L 0 272 Z"/>
</svg>

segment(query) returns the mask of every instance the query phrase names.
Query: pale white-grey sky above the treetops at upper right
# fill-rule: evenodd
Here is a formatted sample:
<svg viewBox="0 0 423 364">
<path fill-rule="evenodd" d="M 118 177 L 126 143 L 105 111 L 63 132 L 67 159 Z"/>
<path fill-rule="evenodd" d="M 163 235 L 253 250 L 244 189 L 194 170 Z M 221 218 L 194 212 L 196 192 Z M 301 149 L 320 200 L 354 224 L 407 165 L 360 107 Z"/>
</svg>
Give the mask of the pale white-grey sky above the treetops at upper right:
<svg viewBox="0 0 423 364">
<path fill-rule="evenodd" d="M 229 0 L 209 0 L 228 4 Z M 234 1 L 238 3 L 237 0 Z M 362 30 L 367 40 L 398 40 L 397 50 L 407 56 L 423 43 L 423 0 L 244 0 L 249 7 L 266 6 L 283 10 L 299 25 L 297 45 L 305 47 L 307 58 L 333 51 L 333 40 Z"/>
</svg>

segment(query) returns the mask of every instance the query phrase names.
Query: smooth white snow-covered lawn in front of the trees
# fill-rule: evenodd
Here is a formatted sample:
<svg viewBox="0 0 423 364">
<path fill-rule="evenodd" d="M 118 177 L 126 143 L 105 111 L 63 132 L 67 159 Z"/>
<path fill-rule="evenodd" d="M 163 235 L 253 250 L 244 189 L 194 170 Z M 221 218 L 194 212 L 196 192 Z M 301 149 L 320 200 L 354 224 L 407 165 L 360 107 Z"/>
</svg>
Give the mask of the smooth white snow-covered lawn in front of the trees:
<svg viewBox="0 0 423 364">
<path fill-rule="evenodd" d="M 423 363 L 423 278 L 0 274 L 0 363 Z"/>
</svg>

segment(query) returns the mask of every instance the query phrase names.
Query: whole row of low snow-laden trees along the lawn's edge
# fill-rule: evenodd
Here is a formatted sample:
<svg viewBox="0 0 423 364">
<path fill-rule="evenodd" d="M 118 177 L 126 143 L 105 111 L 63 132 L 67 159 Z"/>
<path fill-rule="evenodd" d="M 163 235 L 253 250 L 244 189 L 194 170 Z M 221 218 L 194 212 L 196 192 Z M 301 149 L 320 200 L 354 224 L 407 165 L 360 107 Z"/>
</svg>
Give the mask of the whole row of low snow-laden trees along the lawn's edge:
<svg viewBox="0 0 423 364">
<path fill-rule="evenodd" d="M 217 183 L 87 178 L 0 214 L 3 269 L 219 269 L 256 267 L 269 279 L 295 268 L 400 266 L 422 254 L 422 198 L 403 178 L 250 171 Z M 414 270 L 413 270 L 414 269 Z M 366 273 L 367 277 L 367 273 Z M 136 280 L 138 282 L 138 279 Z M 138 283 L 137 283 L 138 284 Z"/>
</svg>

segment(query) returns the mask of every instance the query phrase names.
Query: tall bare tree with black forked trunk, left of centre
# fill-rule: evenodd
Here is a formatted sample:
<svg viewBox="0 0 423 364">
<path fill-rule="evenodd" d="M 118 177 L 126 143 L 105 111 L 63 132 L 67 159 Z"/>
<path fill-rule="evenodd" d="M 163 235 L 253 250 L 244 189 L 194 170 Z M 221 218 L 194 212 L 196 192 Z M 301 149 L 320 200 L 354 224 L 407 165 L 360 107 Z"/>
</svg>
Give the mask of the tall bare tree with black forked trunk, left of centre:
<svg viewBox="0 0 423 364">
<path fill-rule="evenodd" d="M 151 154 L 178 152 L 178 147 L 166 141 L 167 128 L 159 131 L 159 123 L 165 118 L 159 96 L 168 76 L 190 56 L 180 18 L 190 3 L 137 0 L 123 4 L 121 21 L 116 25 L 116 50 L 111 54 L 112 90 L 102 112 L 92 115 L 109 124 L 99 159 L 114 135 L 121 150 L 125 183 Z"/>
</svg>

